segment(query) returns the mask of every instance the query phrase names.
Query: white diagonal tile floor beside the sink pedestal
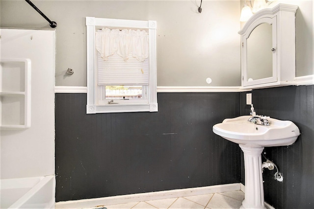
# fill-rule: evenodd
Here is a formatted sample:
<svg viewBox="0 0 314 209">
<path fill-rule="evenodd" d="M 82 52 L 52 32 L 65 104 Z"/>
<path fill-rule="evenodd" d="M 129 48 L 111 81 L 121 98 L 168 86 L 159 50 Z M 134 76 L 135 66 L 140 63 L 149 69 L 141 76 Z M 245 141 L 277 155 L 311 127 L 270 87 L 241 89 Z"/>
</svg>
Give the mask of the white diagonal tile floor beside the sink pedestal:
<svg viewBox="0 0 314 209">
<path fill-rule="evenodd" d="M 107 209 L 239 209 L 241 190 L 105 206 Z M 102 207 L 104 208 L 104 207 Z M 98 209 L 98 208 L 95 208 Z M 99 208 L 101 209 L 101 208 Z"/>
</svg>

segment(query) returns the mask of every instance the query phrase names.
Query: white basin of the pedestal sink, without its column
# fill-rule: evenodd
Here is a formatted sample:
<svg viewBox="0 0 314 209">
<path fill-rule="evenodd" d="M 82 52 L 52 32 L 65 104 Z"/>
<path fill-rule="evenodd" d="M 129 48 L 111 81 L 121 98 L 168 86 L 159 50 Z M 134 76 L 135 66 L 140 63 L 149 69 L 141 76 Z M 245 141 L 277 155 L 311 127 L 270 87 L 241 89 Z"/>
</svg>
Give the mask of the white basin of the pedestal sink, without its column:
<svg viewBox="0 0 314 209">
<path fill-rule="evenodd" d="M 247 121 L 250 116 L 228 118 L 212 127 L 215 134 L 238 144 L 249 146 L 288 146 L 300 135 L 291 121 L 267 118 L 269 126 Z"/>
</svg>

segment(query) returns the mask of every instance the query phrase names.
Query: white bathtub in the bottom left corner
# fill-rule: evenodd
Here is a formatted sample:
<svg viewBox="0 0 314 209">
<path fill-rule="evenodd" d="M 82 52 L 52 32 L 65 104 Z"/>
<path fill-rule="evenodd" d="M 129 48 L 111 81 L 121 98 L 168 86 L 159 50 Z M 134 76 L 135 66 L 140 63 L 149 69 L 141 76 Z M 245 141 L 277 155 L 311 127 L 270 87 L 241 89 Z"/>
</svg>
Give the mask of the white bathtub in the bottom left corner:
<svg viewBox="0 0 314 209">
<path fill-rule="evenodd" d="M 54 209 L 54 175 L 0 180 L 0 209 Z"/>
</svg>

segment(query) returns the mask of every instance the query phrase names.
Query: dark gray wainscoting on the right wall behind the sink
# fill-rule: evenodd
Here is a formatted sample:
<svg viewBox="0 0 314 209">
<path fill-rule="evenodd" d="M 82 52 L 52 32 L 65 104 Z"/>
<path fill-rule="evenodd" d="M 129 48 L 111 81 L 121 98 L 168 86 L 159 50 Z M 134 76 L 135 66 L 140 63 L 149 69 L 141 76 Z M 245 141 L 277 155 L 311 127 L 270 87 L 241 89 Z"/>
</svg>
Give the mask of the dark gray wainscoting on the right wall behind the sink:
<svg viewBox="0 0 314 209">
<path fill-rule="evenodd" d="M 247 115 L 241 93 L 241 115 Z M 258 115 L 291 120 L 301 135 L 290 146 L 265 148 L 266 157 L 283 173 L 284 181 L 273 179 L 275 171 L 263 172 L 265 201 L 276 209 L 314 208 L 314 86 L 289 86 L 252 91 Z M 264 159 L 263 159 L 264 160 Z M 241 172 L 244 183 L 244 172 Z"/>
</svg>

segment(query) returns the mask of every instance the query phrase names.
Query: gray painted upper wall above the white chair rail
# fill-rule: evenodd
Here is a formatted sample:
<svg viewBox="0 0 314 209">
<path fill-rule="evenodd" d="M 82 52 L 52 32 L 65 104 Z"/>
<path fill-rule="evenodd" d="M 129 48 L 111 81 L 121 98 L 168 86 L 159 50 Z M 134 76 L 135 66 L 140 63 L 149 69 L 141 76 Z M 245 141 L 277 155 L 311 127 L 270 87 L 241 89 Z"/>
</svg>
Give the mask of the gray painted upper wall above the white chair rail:
<svg viewBox="0 0 314 209">
<path fill-rule="evenodd" d="M 240 86 L 240 0 L 32 0 L 57 23 L 56 86 L 86 86 L 85 17 L 157 21 L 158 86 Z M 313 0 L 294 0 L 297 76 L 313 72 Z M 25 0 L 0 0 L 0 26 L 50 28 Z M 74 74 L 68 76 L 71 68 Z M 206 78 L 212 83 L 207 84 Z"/>
</svg>

